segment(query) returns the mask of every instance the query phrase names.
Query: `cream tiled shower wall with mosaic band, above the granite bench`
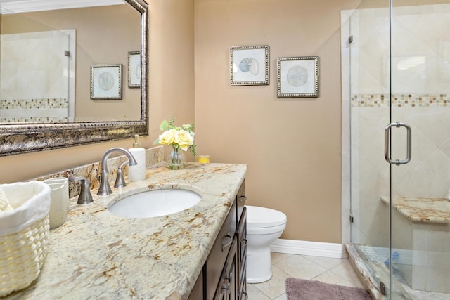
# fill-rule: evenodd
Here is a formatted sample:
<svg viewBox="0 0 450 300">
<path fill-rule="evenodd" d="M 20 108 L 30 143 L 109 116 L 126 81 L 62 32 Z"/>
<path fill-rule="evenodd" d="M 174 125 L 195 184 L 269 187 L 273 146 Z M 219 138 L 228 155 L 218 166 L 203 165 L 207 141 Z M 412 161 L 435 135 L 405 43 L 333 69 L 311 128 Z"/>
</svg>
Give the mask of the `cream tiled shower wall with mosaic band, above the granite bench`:
<svg viewBox="0 0 450 300">
<path fill-rule="evenodd" d="M 413 144 L 411 162 L 392 167 L 393 195 L 446 197 L 450 189 L 450 5 L 397 7 L 392 15 L 391 70 L 388 9 L 359 9 L 350 20 L 352 211 L 359 216 L 352 239 L 380 247 L 389 246 L 379 233 L 389 232 L 380 196 L 389 193 L 390 100 L 392 122 L 411 126 Z M 404 129 L 392 138 L 392 157 L 404 159 Z"/>
</svg>

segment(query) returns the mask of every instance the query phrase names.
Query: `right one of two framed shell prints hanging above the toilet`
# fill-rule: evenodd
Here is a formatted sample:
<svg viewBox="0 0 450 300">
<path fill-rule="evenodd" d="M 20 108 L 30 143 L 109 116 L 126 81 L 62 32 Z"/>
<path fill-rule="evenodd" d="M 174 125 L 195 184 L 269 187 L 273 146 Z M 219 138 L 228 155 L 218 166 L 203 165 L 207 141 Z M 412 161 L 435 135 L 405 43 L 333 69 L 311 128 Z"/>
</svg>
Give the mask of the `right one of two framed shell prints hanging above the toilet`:
<svg viewBox="0 0 450 300">
<path fill-rule="evenodd" d="M 319 56 L 278 58 L 278 98 L 319 97 Z"/>
</svg>

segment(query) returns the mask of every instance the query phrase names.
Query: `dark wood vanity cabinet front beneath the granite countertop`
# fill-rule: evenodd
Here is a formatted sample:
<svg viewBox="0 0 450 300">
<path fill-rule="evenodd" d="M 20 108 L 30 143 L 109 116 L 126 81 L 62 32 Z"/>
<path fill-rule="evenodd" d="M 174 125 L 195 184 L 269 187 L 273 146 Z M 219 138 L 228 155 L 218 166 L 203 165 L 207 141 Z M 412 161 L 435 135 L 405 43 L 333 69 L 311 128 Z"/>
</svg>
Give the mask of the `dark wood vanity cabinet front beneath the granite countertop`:
<svg viewBox="0 0 450 300">
<path fill-rule="evenodd" d="M 244 181 L 188 299 L 248 299 L 245 200 Z"/>
</svg>

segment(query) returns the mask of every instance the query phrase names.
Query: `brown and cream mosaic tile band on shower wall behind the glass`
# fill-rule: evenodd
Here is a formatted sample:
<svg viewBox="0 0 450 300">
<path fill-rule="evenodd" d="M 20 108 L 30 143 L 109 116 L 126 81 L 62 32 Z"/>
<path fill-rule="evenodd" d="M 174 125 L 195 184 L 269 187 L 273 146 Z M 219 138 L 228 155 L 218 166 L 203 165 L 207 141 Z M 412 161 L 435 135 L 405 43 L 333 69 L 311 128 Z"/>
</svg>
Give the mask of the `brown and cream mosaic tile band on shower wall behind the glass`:
<svg viewBox="0 0 450 300">
<path fill-rule="evenodd" d="M 352 107 L 387 107 L 390 105 L 389 94 L 356 94 L 350 100 Z M 394 107 L 450 107 L 450 94 L 411 95 L 393 94 Z"/>
</svg>

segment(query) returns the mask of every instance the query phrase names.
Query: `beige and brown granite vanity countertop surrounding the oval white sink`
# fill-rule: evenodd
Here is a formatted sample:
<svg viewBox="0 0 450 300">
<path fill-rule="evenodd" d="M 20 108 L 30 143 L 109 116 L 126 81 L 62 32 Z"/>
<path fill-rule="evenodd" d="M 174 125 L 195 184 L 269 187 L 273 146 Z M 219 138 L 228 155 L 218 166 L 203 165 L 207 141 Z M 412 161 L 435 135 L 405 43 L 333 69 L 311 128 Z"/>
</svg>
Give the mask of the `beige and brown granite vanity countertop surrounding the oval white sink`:
<svg viewBox="0 0 450 300">
<path fill-rule="evenodd" d="M 39 278 L 4 299 L 186 299 L 207 259 L 226 214 L 243 183 L 244 164 L 187 164 L 147 169 L 145 181 L 70 201 L 63 226 L 50 231 L 49 251 Z M 108 203 L 141 191 L 186 188 L 202 200 L 185 211 L 129 219 Z"/>
</svg>

